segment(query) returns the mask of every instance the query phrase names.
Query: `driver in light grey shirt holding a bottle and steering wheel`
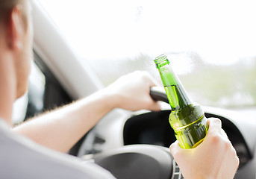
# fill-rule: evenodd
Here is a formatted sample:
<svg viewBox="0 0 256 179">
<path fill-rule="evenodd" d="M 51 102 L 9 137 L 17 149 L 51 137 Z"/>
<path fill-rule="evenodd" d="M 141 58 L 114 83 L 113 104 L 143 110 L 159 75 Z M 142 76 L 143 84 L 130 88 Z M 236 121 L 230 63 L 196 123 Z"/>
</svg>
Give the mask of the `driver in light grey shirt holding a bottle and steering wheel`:
<svg viewBox="0 0 256 179">
<path fill-rule="evenodd" d="M 1 0 L 0 10 L 0 178 L 113 178 L 95 164 L 82 165 L 78 159 L 57 151 L 68 151 L 113 108 L 160 110 L 160 105 L 149 95 L 149 87 L 155 85 L 152 77 L 146 72 L 134 72 L 87 98 L 11 128 L 13 102 L 27 90 L 33 29 L 27 0 Z M 229 165 L 230 170 L 225 175 L 225 171 L 216 169 L 208 177 L 233 177 L 237 155 L 218 119 L 210 120 L 208 134 L 200 148 L 193 151 L 183 151 L 177 143 L 171 146 L 182 172 L 186 178 L 192 178 L 195 174 L 185 164 L 204 163 L 204 158 L 195 159 L 194 154 L 204 154 L 214 144 L 219 158 L 223 150 L 227 151 L 228 157 L 220 161 L 224 166 Z M 210 156 L 207 152 L 205 155 Z M 211 161 L 215 158 L 211 157 Z M 204 172 L 200 174 L 202 178 L 205 176 Z"/>
</svg>

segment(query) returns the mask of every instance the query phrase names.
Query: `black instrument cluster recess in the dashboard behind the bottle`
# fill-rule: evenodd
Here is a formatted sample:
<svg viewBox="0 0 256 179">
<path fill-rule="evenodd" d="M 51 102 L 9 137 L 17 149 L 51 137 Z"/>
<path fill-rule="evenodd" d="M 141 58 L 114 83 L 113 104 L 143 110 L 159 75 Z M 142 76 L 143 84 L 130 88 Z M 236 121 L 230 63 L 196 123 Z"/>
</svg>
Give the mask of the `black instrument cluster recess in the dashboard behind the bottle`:
<svg viewBox="0 0 256 179">
<path fill-rule="evenodd" d="M 125 122 L 124 126 L 124 144 L 150 144 L 160 145 L 169 148 L 172 142 L 175 142 L 175 134 L 169 125 L 170 110 L 160 112 L 144 113 L 139 116 L 132 116 Z M 222 128 L 234 145 L 237 155 L 240 158 L 240 167 L 246 165 L 252 158 L 246 141 L 239 129 L 230 120 L 212 113 L 205 113 L 207 118 L 219 118 L 222 120 Z"/>
</svg>

